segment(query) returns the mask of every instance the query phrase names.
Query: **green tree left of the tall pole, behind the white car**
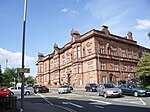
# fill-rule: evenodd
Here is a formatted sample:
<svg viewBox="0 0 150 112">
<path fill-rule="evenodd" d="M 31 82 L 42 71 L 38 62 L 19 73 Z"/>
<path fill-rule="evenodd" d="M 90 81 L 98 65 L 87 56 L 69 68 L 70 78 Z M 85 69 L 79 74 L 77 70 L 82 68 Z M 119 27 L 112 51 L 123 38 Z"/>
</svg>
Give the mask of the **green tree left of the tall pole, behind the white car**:
<svg viewBox="0 0 150 112">
<path fill-rule="evenodd" d="M 15 68 L 6 68 L 3 73 L 3 86 L 10 87 L 12 86 L 11 82 L 14 82 L 17 80 L 17 69 Z"/>
</svg>

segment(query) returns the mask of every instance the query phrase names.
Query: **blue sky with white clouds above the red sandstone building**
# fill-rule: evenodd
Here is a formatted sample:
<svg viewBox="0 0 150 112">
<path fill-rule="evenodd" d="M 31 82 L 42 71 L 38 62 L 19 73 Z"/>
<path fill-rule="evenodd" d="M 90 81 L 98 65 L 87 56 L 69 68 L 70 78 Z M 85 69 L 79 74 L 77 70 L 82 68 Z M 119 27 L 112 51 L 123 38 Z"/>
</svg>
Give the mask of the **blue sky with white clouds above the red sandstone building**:
<svg viewBox="0 0 150 112">
<path fill-rule="evenodd" d="M 107 25 L 112 34 L 128 31 L 141 46 L 150 47 L 150 0 L 28 0 L 25 66 L 36 75 L 38 52 L 53 52 L 71 40 L 74 28 L 80 34 Z M 21 67 L 24 0 L 0 0 L 0 65 Z"/>
</svg>

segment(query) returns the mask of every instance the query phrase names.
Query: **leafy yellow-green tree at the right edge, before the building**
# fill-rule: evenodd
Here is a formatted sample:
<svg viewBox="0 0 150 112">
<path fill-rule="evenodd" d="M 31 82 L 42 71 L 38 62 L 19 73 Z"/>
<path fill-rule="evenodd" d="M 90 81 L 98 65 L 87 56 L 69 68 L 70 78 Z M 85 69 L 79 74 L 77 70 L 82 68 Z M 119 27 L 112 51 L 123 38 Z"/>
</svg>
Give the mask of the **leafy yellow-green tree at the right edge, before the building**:
<svg viewBox="0 0 150 112">
<path fill-rule="evenodd" d="M 146 84 L 150 82 L 150 54 L 145 53 L 142 55 L 137 64 L 136 73 Z"/>
</svg>

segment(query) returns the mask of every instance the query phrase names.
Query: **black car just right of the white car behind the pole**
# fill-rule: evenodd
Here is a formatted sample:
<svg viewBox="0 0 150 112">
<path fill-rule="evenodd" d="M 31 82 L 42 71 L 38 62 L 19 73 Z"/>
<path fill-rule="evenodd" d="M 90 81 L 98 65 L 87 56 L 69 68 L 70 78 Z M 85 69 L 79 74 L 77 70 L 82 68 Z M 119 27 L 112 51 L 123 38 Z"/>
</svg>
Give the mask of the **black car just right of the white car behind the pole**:
<svg viewBox="0 0 150 112">
<path fill-rule="evenodd" d="M 46 86 L 36 85 L 33 87 L 34 93 L 48 93 L 49 89 Z"/>
</svg>

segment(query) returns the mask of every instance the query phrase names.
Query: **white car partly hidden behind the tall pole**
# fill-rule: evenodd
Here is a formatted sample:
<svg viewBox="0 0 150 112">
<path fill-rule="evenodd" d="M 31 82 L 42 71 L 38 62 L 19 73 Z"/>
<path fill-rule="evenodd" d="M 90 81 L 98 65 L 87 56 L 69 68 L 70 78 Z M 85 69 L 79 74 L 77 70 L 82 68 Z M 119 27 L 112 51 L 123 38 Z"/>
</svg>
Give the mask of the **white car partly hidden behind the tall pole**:
<svg viewBox="0 0 150 112">
<path fill-rule="evenodd" d="M 13 95 L 15 95 L 15 94 L 21 94 L 21 88 L 20 87 L 10 87 L 8 89 L 11 91 L 11 93 Z M 25 89 L 24 88 L 24 94 L 25 95 L 30 95 L 32 93 L 33 93 L 33 90 L 29 90 L 29 89 Z"/>
</svg>

